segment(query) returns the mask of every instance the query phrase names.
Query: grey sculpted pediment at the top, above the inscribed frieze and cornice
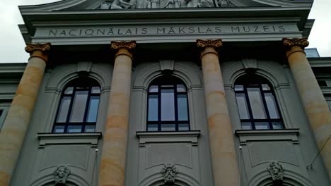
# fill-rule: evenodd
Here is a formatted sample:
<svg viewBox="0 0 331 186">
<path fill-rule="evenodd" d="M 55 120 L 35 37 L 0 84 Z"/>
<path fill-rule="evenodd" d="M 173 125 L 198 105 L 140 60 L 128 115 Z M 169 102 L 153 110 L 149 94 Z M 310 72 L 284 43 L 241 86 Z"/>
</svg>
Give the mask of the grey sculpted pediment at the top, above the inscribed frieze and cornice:
<svg viewBox="0 0 331 186">
<path fill-rule="evenodd" d="M 311 7 L 311 1 L 298 0 L 63 0 L 50 4 L 20 6 L 22 13 L 38 11 L 83 11 L 149 8 L 236 8 Z"/>
</svg>

